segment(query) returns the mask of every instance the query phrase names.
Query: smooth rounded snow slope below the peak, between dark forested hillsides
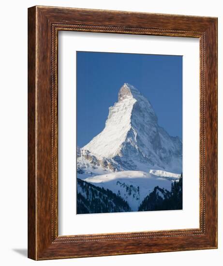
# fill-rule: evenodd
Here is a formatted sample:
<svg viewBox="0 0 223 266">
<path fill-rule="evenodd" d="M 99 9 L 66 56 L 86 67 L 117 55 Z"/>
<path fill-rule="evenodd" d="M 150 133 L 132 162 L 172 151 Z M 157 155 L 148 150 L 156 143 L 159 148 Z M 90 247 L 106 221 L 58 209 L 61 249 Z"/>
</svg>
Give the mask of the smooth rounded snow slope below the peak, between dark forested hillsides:
<svg viewBox="0 0 223 266">
<path fill-rule="evenodd" d="M 143 171 L 121 171 L 94 177 L 88 177 L 84 181 L 103 187 L 116 193 L 127 201 L 133 211 L 137 211 L 143 199 L 159 186 L 168 191 L 171 189 L 171 181 L 151 175 Z"/>
</svg>

